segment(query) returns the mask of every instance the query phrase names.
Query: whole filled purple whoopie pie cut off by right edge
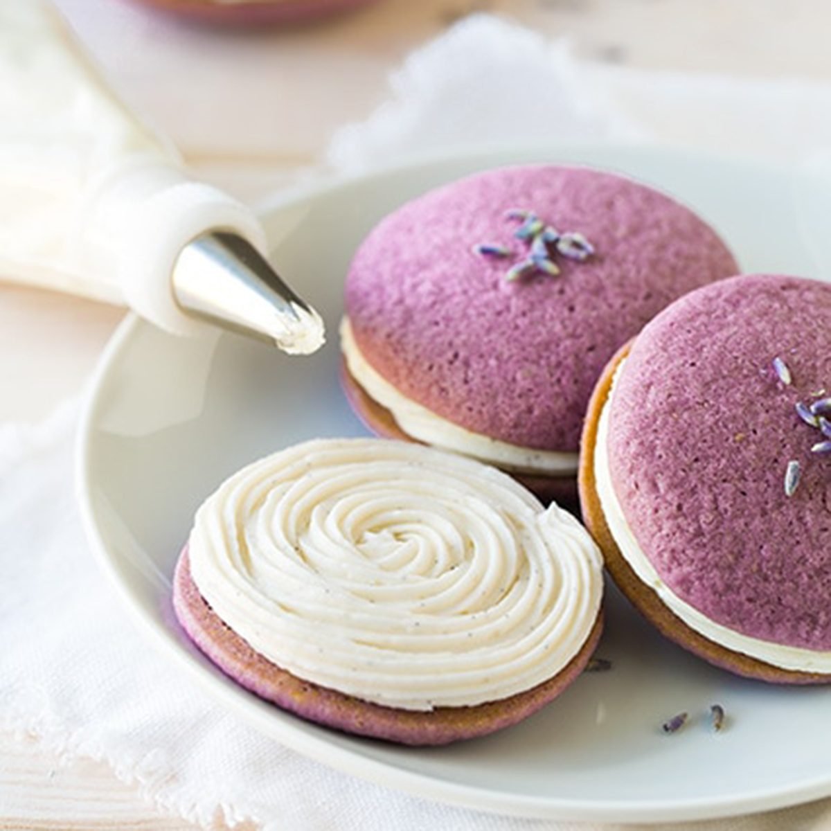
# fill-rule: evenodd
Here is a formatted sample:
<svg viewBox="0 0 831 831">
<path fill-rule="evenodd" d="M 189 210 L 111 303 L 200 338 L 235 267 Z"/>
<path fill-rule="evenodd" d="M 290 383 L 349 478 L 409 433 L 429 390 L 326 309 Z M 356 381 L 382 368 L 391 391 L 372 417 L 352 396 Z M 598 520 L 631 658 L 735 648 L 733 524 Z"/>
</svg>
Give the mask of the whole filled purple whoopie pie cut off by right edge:
<svg viewBox="0 0 831 831">
<path fill-rule="evenodd" d="M 583 518 L 661 632 L 743 676 L 831 681 L 831 286 L 682 297 L 607 366 Z"/>
</svg>

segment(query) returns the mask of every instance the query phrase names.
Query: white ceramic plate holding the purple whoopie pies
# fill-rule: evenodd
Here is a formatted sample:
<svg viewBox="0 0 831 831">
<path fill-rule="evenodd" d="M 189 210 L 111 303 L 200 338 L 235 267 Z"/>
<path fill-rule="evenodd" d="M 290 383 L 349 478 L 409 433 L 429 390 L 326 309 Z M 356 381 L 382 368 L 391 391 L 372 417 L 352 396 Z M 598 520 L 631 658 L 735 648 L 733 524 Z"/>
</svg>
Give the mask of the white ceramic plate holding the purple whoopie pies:
<svg viewBox="0 0 831 831">
<path fill-rule="evenodd" d="M 635 149 L 549 149 L 433 161 L 274 201 L 273 261 L 325 317 L 327 346 L 289 358 L 241 337 L 187 341 L 138 319 L 101 361 L 79 446 L 91 541 L 143 630 L 182 671 L 259 730 L 327 765 L 431 799 L 558 819 L 700 819 L 831 794 L 831 690 L 782 689 L 715 670 L 657 636 L 610 593 L 599 650 L 612 671 L 584 675 L 510 730 L 440 749 L 341 735 L 269 706 L 183 637 L 170 575 L 194 509 L 241 465 L 312 436 L 362 435 L 337 381 L 337 321 L 352 252 L 405 199 L 470 171 L 567 161 L 637 176 L 676 194 L 724 234 L 745 271 L 809 273 L 783 172 Z M 720 703 L 725 730 L 706 713 Z M 675 735 L 661 722 L 689 711 Z"/>
</svg>

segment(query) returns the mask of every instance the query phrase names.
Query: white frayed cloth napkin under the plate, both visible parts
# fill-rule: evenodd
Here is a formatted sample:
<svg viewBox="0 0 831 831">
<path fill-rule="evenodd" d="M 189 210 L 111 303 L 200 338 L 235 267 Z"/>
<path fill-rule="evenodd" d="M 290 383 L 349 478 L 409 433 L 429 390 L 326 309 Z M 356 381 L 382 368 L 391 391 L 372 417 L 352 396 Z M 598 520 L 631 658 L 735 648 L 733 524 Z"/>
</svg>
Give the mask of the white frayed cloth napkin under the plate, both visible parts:
<svg viewBox="0 0 831 831">
<path fill-rule="evenodd" d="M 708 107 L 715 106 L 708 116 L 715 118 L 728 105 L 734 116 L 744 107 L 757 128 L 762 119 L 777 121 L 777 107 L 794 124 L 765 144 L 735 116 L 740 123 L 730 135 L 725 125 L 712 125 L 711 146 L 735 140 L 774 158 L 783 148 L 805 154 L 831 146 L 831 106 L 817 111 L 831 102 L 822 85 L 800 87 L 804 96 L 794 101 L 776 85 L 702 83 L 581 65 L 562 44 L 477 17 L 413 55 L 393 79 L 391 101 L 366 123 L 342 130 L 329 161 L 359 170 L 474 137 L 488 144 L 661 140 L 669 129 L 701 145 L 692 125 Z M 659 101 L 666 109 L 650 119 L 632 101 Z M 796 124 L 814 130 L 810 146 Z M 219 810 L 229 823 L 251 819 L 267 831 L 599 827 L 478 814 L 368 784 L 258 735 L 205 697 L 145 642 L 91 557 L 73 493 L 78 411 L 71 401 L 40 425 L 0 428 L 0 724 L 36 732 L 66 755 L 106 760 L 160 805 L 204 824 Z M 825 800 L 677 828 L 820 829 L 829 822 Z"/>
</svg>

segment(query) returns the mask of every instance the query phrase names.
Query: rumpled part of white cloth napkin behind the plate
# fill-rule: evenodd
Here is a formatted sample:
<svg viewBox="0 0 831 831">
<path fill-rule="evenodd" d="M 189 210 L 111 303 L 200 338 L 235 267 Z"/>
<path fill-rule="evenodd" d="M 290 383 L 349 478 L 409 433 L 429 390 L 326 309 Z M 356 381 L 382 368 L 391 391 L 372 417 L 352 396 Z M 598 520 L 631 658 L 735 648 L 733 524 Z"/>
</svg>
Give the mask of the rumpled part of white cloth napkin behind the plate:
<svg viewBox="0 0 831 831">
<path fill-rule="evenodd" d="M 336 167 L 461 145 L 614 139 L 794 165 L 831 150 L 831 84 L 580 61 L 568 41 L 474 15 L 414 52 L 391 99 L 337 132 Z"/>
</svg>

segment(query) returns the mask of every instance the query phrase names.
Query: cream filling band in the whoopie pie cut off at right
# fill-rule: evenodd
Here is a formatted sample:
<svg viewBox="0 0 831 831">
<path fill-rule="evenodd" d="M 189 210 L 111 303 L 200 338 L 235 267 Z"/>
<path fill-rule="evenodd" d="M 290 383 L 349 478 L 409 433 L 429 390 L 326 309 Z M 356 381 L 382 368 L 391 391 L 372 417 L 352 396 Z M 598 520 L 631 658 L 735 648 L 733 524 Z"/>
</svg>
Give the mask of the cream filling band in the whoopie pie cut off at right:
<svg viewBox="0 0 831 831">
<path fill-rule="evenodd" d="M 735 632 L 735 630 L 722 626 L 720 623 L 706 617 L 673 593 L 671 588 L 661 580 L 655 567 L 647 559 L 646 554 L 643 553 L 640 544 L 637 542 L 632 526 L 623 515 L 623 509 L 612 485 L 612 475 L 609 468 L 610 402 L 612 401 L 615 383 L 620 376 L 624 363 L 625 361 L 621 361 L 620 365 L 617 366 L 617 371 L 612 379 L 612 390 L 603 406 L 597 424 L 597 440 L 594 447 L 594 478 L 597 496 L 600 499 L 608 529 L 615 543 L 617 543 L 617 548 L 620 549 L 622 557 L 632 567 L 632 571 L 637 574 L 637 578 L 649 588 L 652 588 L 661 598 L 661 602 L 676 617 L 679 617 L 688 627 L 694 629 L 709 641 L 718 643 L 731 652 L 740 652 L 759 661 L 765 661 L 771 666 L 779 666 L 781 669 L 800 672 L 831 672 L 831 652 L 815 652 L 801 647 L 785 647 L 774 642 L 742 635 L 740 632 Z"/>
</svg>

